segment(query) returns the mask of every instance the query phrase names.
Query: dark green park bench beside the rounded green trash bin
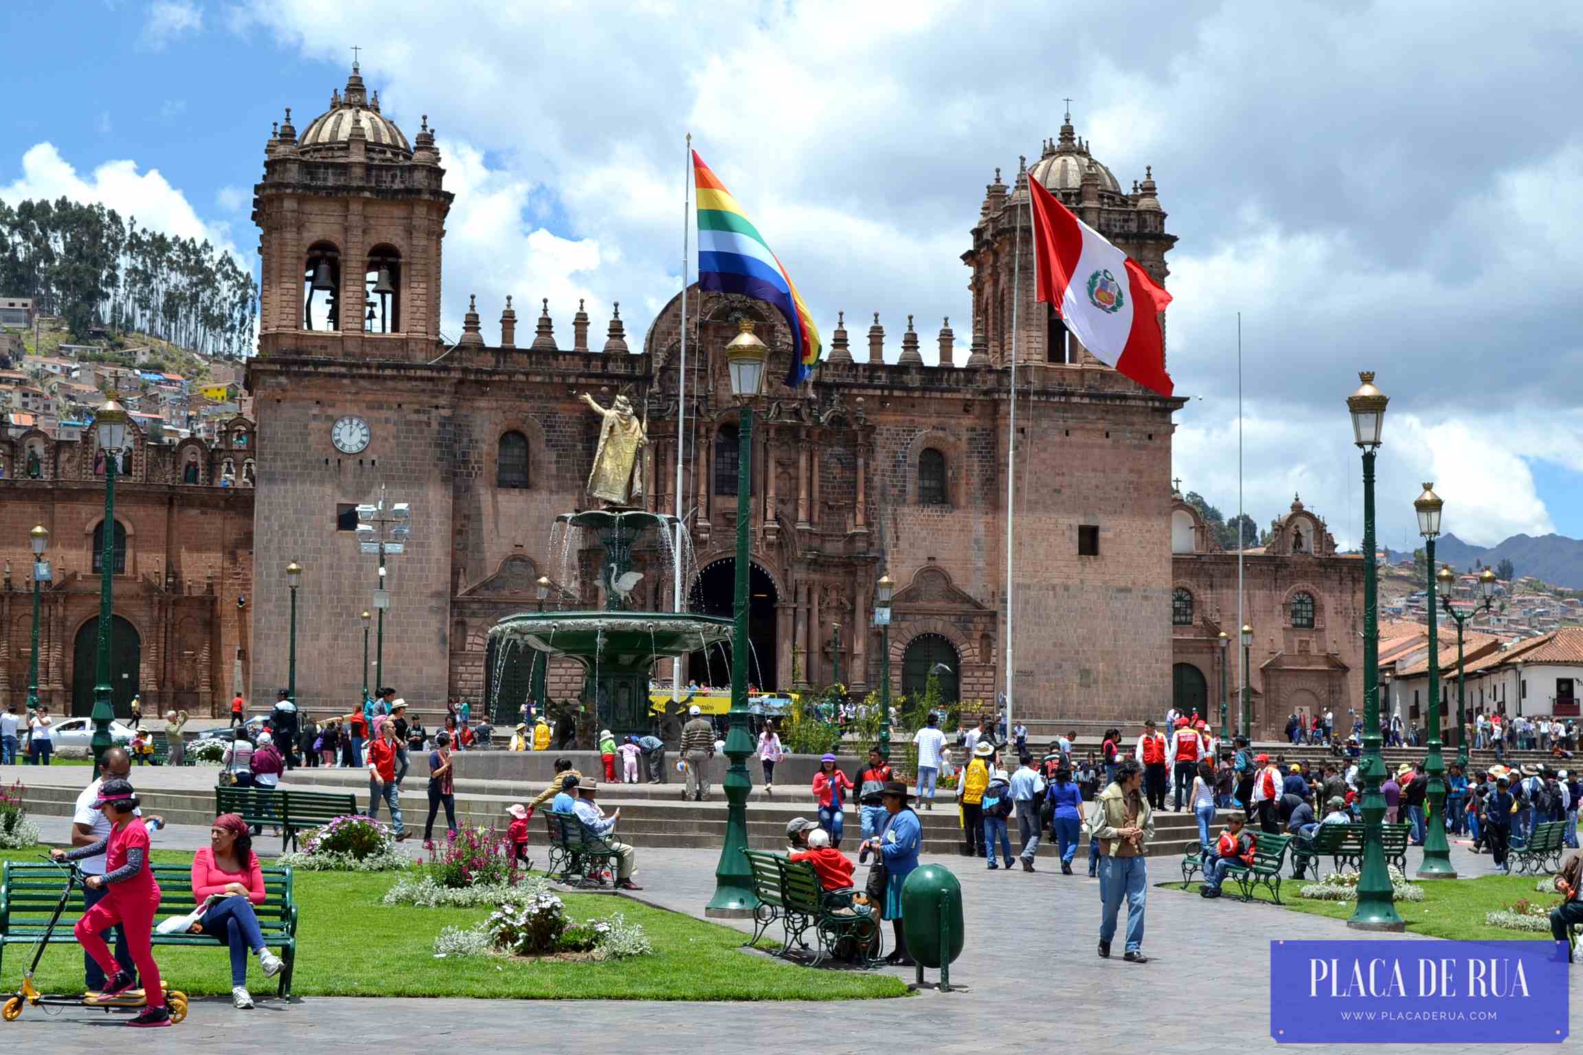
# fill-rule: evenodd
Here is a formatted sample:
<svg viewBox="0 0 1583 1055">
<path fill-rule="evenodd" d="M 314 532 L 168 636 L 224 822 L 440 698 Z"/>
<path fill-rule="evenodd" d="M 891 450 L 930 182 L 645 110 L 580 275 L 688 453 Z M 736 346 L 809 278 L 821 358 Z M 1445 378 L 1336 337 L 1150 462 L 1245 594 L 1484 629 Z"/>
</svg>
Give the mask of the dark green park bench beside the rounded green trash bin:
<svg viewBox="0 0 1583 1055">
<path fill-rule="evenodd" d="M 814 959 L 809 966 L 818 966 L 826 959 L 844 954 L 860 966 L 872 966 L 877 962 L 879 916 L 872 905 L 856 902 L 860 891 L 823 889 L 818 873 L 807 860 L 792 860 L 760 849 L 742 849 L 742 853 L 747 856 L 754 894 L 760 905 L 754 913 L 755 928 L 749 944 L 757 943 L 765 930 L 780 919 L 785 928 L 780 955 L 790 957 L 796 949 L 810 949 Z M 804 940 L 809 930 L 817 940 L 814 946 Z"/>
</svg>

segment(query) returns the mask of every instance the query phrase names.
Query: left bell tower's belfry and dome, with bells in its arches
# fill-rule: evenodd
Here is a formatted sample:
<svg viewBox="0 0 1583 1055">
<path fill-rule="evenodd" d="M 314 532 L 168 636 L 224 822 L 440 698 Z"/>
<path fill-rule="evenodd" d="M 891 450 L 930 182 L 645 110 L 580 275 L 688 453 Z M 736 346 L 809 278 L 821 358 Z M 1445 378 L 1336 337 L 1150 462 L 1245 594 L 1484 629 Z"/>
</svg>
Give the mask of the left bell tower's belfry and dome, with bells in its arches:
<svg viewBox="0 0 1583 1055">
<path fill-rule="evenodd" d="M 427 115 L 408 144 L 356 63 L 301 138 L 288 108 L 253 187 L 260 356 L 432 359 L 451 207 L 443 182 Z"/>
</svg>

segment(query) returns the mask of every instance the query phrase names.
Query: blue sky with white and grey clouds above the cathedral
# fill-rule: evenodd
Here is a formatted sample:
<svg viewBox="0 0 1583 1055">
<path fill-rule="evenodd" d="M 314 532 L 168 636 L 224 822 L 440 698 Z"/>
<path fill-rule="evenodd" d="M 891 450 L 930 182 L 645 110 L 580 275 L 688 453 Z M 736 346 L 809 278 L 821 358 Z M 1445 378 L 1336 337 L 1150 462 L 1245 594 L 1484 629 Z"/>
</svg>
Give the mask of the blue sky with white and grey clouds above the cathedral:
<svg viewBox="0 0 1583 1055">
<path fill-rule="evenodd" d="M 442 329 L 489 340 L 578 297 L 628 334 L 679 289 L 684 136 L 792 272 L 820 329 L 879 312 L 970 337 L 959 255 L 994 168 L 1073 123 L 1167 229 L 1173 475 L 1258 524 L 1295 493 L 1361 535 L 1346 397 L 1390 395 L 1382 544 L 1583 536 L 1583 6 L 1461 0 L 9 0 L 0 199 L 103 201 L 256 270 L 272 120 L 344 87 L 437 130 Z M 1238 418 L 1241 313 L 1241 418 Z M 853 332 L 866 329 L 860 326 Z M 636 342 L 633 342 L 636 346 Z M 861 346 L 861 337 L 855 346 Z M 966 353 L 964 353 L 966 354 Z M 863 350 L 856 348 L 856 357 Z"/>
</svg>

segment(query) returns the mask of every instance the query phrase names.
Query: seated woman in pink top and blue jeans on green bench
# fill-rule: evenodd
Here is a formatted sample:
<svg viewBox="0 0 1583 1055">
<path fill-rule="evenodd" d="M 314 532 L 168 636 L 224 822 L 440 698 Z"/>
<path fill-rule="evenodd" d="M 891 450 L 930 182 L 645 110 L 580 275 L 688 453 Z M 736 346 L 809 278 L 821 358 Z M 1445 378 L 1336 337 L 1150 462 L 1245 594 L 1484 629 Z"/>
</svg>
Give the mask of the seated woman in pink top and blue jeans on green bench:
<svg viewBox="0 0 1583 1055">
<path fill-rule="evenodd" d="M 280 973 L 280 957 L 264 946 L 253 905 L 264 903 L 264 873 L 253 853 L 247 821 L 236 813 L 222 813 L 209 829 L 209 848 L 193 854 L 193 897 L 207 898 L 203 919 L 193 933 L 220 940 L 231 951 L 231 1004 L 252 1008 L 247 992 L 247 952 L 258 954 L 266 977 Z"/>
</svg>

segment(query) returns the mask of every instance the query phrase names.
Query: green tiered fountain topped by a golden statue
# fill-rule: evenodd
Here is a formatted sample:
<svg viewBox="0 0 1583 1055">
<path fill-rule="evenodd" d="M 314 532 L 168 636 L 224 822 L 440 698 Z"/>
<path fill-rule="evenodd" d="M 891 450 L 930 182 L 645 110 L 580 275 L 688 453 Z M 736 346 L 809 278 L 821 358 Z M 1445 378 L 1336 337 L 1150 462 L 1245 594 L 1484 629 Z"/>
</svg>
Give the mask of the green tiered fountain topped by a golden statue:
<svg viewBox="0 0 1583 1055">
<path fill-rule="evenodd" d="M 605 607 L 507 615 L 489 630 L 489 637 L 500 653 L 527 645 L 546 653 L 545 661 L 552 656 L 575 660 L 584 669 L 581 699 L 597 701 L 598 728 L 616 735 L 644 734 L 649 731 L 649 675 L 654 664 L 730 641 L 731 620 L 636 609 L 633 595 L 643 573 L 632 569 L 633 547 L 649 528 L 676 530 L 676 517 L 622 505 L 641 497 L 636 449 L 646 441 L 643 427 L 630 405 L 622 410 L 624 397 L 617 397 L 616 408 L 608 411 L 590 399 L 586 402 L 605 416 L 589 475 L 589 493 L 605 500 L 605 506 L 564 512 L 556 525 L 564 536 L 570 536 L 573 528 L 590 530 L 603 544 L 598 588 L 605 595 Z M 630 429 L 632 438 L 625 444 L 622 429 Z M 554 535 L 556 530 L 551 530 L 551 538 Z M 682 554 L 671 554 L 671 560 L 682 560 Z M 500 691 L 500 680 L 495 675 L 491 693 Z"/>
</svg>

